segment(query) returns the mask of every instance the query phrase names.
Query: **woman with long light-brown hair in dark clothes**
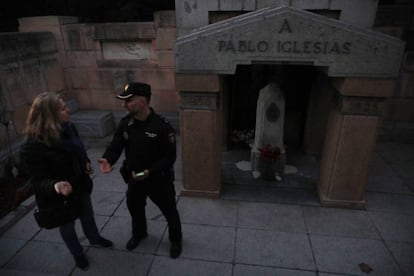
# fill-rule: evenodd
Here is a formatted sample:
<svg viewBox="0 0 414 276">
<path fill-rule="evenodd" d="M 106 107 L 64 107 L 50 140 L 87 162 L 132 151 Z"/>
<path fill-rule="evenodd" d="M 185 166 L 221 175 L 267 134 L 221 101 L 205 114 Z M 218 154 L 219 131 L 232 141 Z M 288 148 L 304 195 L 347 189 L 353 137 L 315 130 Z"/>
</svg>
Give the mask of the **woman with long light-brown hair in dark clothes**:
<svg viewBox="0 0 414 276">
<path fill-rule="evenodd" d="M 75 232 L 76 218 L 92 245 L 112 247 L 112 242 L 101 237 L 96 226 L 90 198 L 92 167 L 62 97 L 49 92 L 38 95 L 24 133 L 21 159 L 31 177 L 40 214 L 46 213 L 48 223 L 52 220 L 53 226 L 46 228 L 58 226 L 76 265 L 87 269 L 89 263 Z M 63 206 L 70 215 L 59 213 Z M 59 221 L 53 221 L 54 217 Z M 67 219 L 62 222 L 62 218 Z"/>
</svg>

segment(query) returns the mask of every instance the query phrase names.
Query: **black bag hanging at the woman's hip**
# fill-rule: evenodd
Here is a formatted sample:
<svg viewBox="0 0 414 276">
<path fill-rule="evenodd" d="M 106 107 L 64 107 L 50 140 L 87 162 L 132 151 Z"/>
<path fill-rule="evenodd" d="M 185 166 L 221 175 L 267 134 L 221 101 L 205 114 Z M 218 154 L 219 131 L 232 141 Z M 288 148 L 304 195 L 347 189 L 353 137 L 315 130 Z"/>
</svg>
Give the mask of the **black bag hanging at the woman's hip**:
<svg viewBox="0 0 414 276">
<path fill-rule="evenodd" d="M 53 229 L 74 221 L 79 217 L 79 208 L 71 201 L 51 208 L 39 208 L 34 212 L 37 224 L 46 229 Z"/>
</svg>

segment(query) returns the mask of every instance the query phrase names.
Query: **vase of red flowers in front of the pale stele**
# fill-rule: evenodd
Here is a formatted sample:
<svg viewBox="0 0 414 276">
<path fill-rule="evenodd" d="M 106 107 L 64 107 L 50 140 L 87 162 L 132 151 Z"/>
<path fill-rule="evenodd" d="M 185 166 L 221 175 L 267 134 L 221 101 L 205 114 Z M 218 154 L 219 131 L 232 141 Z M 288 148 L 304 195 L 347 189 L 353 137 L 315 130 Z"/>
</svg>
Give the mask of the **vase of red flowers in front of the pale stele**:
<svg viewBox="0 0 414 276">
<path fill-rule="evenodd" d="M 277 168 L 282 154 L 282 150 L 278 146 L 266 144 L 258 148 L 260 152 L 261 175 L 265 180 L 275 180 Z"/>
</svg>

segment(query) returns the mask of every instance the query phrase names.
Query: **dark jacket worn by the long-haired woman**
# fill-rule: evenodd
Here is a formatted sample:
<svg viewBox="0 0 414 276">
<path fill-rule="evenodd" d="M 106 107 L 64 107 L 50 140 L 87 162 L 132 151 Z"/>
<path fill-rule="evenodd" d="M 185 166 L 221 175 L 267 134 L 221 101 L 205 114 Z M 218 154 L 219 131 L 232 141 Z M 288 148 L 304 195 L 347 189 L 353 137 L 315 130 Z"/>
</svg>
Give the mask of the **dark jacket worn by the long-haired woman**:
<svg viewBox="0 0 414 276">
<path fill-rule="evenodd" d="M 70 127 L 79 138 L 74 126 Z M 64 135 L 62 139 L 65 139 Z M 59 142 L 47 146 L 29 137 L 20 150 L 20 157 L 31 178 L 39 209 L 61 206 L 63 202 L 71 201 L 81 193 L 92 191 L 92 180 L 86 173 L 86 164 L 82 160 L 84 157 L 65 144 Z M 59 181 L 68 181 L 72 185 L 71 195 L 65 197 L 56 193 L 54 184 Z"/>
</svg>

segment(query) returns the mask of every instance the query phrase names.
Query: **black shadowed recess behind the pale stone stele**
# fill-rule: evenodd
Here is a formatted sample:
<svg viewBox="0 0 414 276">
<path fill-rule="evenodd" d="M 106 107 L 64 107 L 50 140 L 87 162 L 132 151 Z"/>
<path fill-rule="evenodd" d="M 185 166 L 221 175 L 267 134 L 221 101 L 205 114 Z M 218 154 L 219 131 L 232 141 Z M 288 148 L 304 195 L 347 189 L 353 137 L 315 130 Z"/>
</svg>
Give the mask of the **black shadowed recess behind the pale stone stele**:
<svg viewBox="0 0 414 276">
<path fill-rule="evenodd" d="M 286 110 L 284 142 L 287 147 L 300 149 L 306 124 L 307 105 L 315 67 L 292 65 L 239 65 L 228 76 L 229 137 L 228 148 L 248 147 L 251 131 L 256 125 L 256 105 L 260 90 L 276 81 L 285 91 Z M 246 137 L 249 136 L 249 137 Z M 241 139 L 240 139 L 241 138 Z"/>
</svg>

